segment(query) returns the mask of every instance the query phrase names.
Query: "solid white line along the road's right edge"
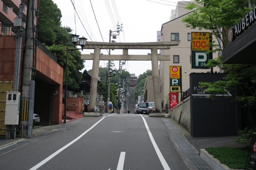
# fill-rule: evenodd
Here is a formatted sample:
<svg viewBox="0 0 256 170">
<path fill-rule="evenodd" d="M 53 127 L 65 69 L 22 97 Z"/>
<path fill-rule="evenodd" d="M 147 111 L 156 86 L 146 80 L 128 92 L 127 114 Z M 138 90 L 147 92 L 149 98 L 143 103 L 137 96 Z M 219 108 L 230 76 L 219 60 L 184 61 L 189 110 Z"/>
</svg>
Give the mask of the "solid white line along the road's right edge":
<svg viewBox="0 0 256 170">
<path fill-rule="evenodd" d="M 154 138 L 153 138 L 153 136 L 152 136 L 152 133 L 151 133 L 151 131 L 149 130 L 149 127 L 148 127 L 148 124 L 147 124 L 145 118 L 144 118 L 142 115 L 140 115 L 140 116 L 141 116 L 142 119 L 143 119 L 143 122 L 144 122 L 144 124 L 145 124 L 145 127 L 146 127 L 146 129 L 147 129 L 147 131 L 148 131 L 149 138 L 150 138 L 150 140 L 151 140 L 151 142 L 152 142 L 152 144 L 153 144 L 153 146 L 154 146 L 154 149 L 155 149 L 155 151 L 156 151 L 156 153 L 157 153 L 158 158 L 160 159 L 161 164 L 163 165 L 164 170 L 171 170 L 170 167 L 168 166 L 166 160 L 164 159 L 164 157 L 163 157 L 161 151 L 159 150 L 159 148 L 158 148 L 158 146 L 157 146 L 157 143 L 155 142 L 155 140 L 154 140 Z"/>
</svg>

